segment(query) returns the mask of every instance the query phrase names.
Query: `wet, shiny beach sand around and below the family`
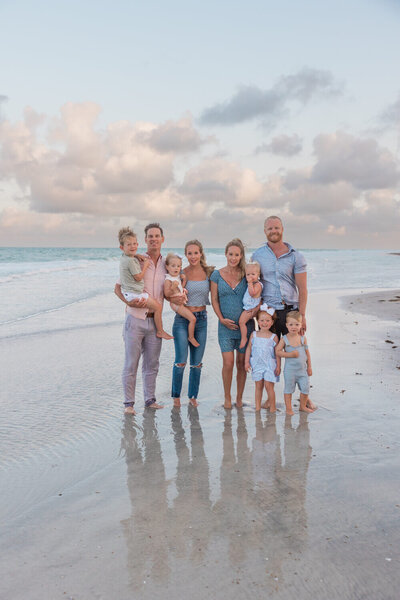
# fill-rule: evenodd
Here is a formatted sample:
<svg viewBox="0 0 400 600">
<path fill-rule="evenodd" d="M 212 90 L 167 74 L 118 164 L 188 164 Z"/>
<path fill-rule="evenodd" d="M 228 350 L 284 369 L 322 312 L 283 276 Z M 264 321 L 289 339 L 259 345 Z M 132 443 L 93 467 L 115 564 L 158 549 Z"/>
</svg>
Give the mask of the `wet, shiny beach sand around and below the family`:
<svg viewBox="0 0 400 600">
<path fill-rule="evenodd" d="M 250 380 L 222 408 L 211 309 L 198 410 L 172 409 L 164 343 L 165 408 L 123 415 L 121 324 L 3 340 L 0 596 L 397 600 L 400 294 L 343 293 L 310 296 L 308 416 L 282 382 L 276 416 Z"/>
</svg>

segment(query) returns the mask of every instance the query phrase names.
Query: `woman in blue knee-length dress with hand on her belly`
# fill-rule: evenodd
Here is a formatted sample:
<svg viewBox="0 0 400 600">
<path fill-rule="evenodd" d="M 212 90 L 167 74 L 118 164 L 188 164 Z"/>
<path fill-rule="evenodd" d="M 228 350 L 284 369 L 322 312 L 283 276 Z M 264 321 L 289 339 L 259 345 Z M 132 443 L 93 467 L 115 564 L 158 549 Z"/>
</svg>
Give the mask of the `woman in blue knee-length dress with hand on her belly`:
<svg viewBox="0 0 400 600">
<path fill-rule="evenodd" d="M 211 279 L 211 303 L 219 319 L 218 343 L 222 353 L 222 381 L 224 384 L 224 407 L 232 408 L 231 386 L 236 351 L 236 406 L 243 405 L 242 396 L 246 383 L 244 359 L 246 348 L 240 348 L 239 317 L 243 311 L 243 296 L 247 289 L 245 277 L 244 247 L 238 238 L 225 248 L 226 266 L 214 271 Z M 253 320 L 248 330 L 254 329 Z"/>
</svg>

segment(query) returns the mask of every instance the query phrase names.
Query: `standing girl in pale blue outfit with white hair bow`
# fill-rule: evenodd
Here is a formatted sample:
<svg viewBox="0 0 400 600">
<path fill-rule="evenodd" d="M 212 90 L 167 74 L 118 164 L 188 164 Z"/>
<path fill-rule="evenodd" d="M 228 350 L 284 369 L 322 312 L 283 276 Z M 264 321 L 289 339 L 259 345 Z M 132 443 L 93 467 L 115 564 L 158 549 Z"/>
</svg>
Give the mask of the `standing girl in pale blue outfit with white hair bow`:
<svg viewBox="0 0 400 600">
<path fill-rule="evenodd" d="M 275 310 L 262 304 L 256 318 L 259 331 L 254 331 L 249 339 L 244 366 L 246 371 L 251 371 L 256 384 L 256 411 L 269 408 L 270 412 L 276 412 L 275 383 L 279 381 L 281 359 L 275 355 L 278 336 L 270 331 L 276 320 Z M 267 401 L 261 406 L 264 387 Z"/>
</svg>

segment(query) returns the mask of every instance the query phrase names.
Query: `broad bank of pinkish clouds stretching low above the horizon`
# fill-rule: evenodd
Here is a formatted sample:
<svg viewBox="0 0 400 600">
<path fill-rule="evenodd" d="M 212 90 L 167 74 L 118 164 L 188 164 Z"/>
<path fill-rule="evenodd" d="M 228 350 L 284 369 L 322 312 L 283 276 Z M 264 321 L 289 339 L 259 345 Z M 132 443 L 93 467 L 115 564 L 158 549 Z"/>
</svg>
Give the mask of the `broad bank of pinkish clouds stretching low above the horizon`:
<svg viewBox="0 0 400 600">
<path fill-rule="evenodd" d="M 120 226 L 142 232 L 160 220 L 171 246 L 193 237 L 224 246 L 235 236 L 255 246 L 264 218 L 278 214 L 295 244 L 398 245 L 397 164 L 373 138 L 320 134 L 308 164 L 262 177 L 213 148 L 205 155 L 214 140 L 190 117 L 100 129 L 99 113 L 69 103 L 57 118 L 28 108 L 20 122 L 0 122 L 3 244 L 112 245 Z M 276 136 L 270 146 L 300 143 Z"/>
</svg>

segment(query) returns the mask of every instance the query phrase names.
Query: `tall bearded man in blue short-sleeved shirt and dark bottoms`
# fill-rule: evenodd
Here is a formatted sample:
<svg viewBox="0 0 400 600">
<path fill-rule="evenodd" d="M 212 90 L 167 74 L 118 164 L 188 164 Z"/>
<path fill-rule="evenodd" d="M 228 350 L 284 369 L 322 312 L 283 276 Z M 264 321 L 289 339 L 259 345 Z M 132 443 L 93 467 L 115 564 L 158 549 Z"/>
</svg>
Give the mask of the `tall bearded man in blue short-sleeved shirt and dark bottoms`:
<svg viewBox="0 0 400 600">
<path fill-rule="evenodd" d="M 283 225 L 279 217 L 267 217 L 264 222 L 267 242 L 253 253 L 260 264 L 262 298 L 275 308 L 275 330 L 278 337 L 287 333 L 286 313 L 299 310 L 302 316 L 301 335 L 306 330 L 307 263 L 301 252 L 282 240 Z"/>
</svg>

